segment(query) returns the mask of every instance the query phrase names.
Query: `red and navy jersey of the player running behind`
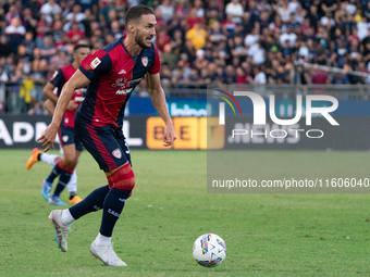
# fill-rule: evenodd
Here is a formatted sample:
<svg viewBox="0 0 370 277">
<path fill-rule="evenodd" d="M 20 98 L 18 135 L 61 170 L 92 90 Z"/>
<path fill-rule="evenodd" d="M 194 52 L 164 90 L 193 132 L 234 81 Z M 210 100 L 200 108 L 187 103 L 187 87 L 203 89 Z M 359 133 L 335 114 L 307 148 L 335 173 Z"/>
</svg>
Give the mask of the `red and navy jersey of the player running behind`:
<svg viewBox="0 0 370 277">
<path fill-rule="evenodd" d="M 69 79 L 72 77 L 72 75 L 76 72 L 76 70 L 72 66 L 64 66 L 58 71 L 54 72 L 54 74 L 52 75 L 52 79 L 50 80 L 50 84 L 53 85 L 57 88 L 57 96 L 60 97 L 60 95 L 62 93 L 62 88 L 64 86 L 65 83 L 69 81 Z M 73 92 L 72 95 L 72 99 L 71 100 L 75 100 L 75 103 L 77 105 L 81 105 L 81 103 L 84 100 L 84 96 L 83 96 L 83 89 L 77 89 Z M 76 110 L 73 111 L 69 111 L 65 110 L 64 114 L 63 114 L 63 119 L 62 119 L 62 124 L 64 126 L 67 127 L 74 127 L 74 116 L 76 114 Z"/>
</svg>

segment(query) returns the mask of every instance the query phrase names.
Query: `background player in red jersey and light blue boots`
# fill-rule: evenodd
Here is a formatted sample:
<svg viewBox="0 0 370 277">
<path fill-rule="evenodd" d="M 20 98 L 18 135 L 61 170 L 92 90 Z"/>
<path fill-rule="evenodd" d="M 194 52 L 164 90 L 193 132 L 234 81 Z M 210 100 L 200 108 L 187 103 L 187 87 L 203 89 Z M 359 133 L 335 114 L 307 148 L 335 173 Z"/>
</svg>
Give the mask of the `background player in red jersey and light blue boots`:
<svg viewBox="0 0 370 277">
<path fill-rule="evenodd" d="M 81 62 L 90 53 L 90 48 L 86 45 L 77 45 L 73 51 L 73 63 L 72 65 L 64 66 L 57 71 L 52 79 L 45 86 L 44 95 L 53 103 L 58 102 L 61 96 L 62 88 L 64 84 L 74 75 Z M 54 89 L 57 95 L 53 93 Z M 74 90 L 67 103 L 65 112 L 63 111 L 62 122 L 60 124 L 58 135 L 60 138 L 60 144 L 63 149 L 63 158 L 59 160 L 51 171 L 49 177 L 44 179 L 41 196 L 45 200 L 49 201 L 50 205 L 66 205 L 61 199 L 60 193 L 63 191 L 64 187 L 71 180 L 72 174 L 78 162 L 78 156 L 83 150 L 83 144 L 75 136 L 74 129 L 74 116 L 77 106 L 83 101 L 83 90 Z M 54 189 L 53 194 L 50 197 L 50 191 L 53 180 L 59 176 L 59 181 Z M 75 196 L 72 196 L 74 198 Z M 71 200 L 71 197 L 70 197 Z M 78 202 L 79 197 L 76 199 Z"/>
</svg>

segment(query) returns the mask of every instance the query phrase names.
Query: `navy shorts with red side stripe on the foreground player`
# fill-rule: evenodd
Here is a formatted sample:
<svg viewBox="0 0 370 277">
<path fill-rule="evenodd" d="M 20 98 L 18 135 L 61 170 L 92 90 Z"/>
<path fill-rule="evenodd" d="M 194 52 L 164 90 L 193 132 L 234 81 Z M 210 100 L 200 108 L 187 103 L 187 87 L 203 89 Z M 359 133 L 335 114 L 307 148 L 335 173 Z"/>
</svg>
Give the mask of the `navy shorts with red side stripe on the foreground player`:
<svg viewBox="0 0 370 277">
<path fill-rule="evenodd" d="M 110 172 L 130 162 L 131 155 L 122 130 L 113 126 L 94 127 L 75 121 L 78 139 L 94 156 L 100 169 Z"/>
</svg>

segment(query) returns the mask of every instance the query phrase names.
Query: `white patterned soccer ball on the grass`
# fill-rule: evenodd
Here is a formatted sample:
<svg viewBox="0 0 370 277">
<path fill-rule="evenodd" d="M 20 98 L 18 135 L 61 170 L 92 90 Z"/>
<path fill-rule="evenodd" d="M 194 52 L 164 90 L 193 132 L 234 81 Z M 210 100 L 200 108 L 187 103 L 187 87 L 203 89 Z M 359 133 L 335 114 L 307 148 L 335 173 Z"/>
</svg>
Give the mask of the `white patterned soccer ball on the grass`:
<svg viewBox="0 0 370 277">
<path fill-rule="evenodd" d="M 218 235 L 205 234 L 194 242 L 193 256 L 201 266 L 218 266 L 226 259 L 226 244 Z"/>
</svg>

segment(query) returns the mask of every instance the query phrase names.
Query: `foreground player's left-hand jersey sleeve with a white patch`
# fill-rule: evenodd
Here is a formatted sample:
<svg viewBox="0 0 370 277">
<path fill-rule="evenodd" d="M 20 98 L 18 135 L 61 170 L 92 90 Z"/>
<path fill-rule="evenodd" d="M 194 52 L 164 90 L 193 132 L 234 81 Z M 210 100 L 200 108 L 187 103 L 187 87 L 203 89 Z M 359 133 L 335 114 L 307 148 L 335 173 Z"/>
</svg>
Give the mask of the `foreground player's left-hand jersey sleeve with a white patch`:
<svg viewBox="0 0 370 277">
<path fill-rule="evenodd" d="M 89 80 L 97 80 L 112 70 L 112 60 L 106 51 L 99 49 L 94 54 L 88 54 L 78 68 Z"/>
</svg>

